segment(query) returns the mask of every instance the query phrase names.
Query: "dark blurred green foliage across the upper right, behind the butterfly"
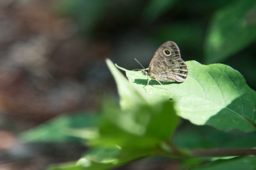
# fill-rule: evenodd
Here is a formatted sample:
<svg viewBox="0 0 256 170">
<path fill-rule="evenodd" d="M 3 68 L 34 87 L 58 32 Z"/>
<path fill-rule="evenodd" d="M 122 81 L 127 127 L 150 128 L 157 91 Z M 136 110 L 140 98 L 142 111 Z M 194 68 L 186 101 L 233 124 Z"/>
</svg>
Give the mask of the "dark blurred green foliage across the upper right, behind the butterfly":
<svg viewBox="0 0 256 170">
<path fill-rule="evenodd" d="M 167 40 L 177 42 L 184 59 L 215 63 L 240 60 L 238 52 L 248 51 L 251 62 L 256 50 L 251 46 L 256 34 L 254 0 L 133 0 L 108 3 L 99 0 L 60 0 L 59 14 L 73 18 L 77 30 L 85 37 L 107 37 L 114 43 L 120 38 L 138 36 L 157 46 Z M 134 43 L 132 38 L 127 43 Z M 137 48 L 140 48 L 139 46 Z M 143 51 L 141 51 L 143 54 Z M 137 55 L 141 55 L 137 54 Z M 148 58 L 151 56 L 144 56 Z M 231 58 L 230 60 L 227 60 Z M 236 62 L 239 63 L 239 62 Z M 135 63 L 134 63 L 135 65 Z M 255 79 L 247 67 L 236 68 L 256 89 Z"/>
</svg>

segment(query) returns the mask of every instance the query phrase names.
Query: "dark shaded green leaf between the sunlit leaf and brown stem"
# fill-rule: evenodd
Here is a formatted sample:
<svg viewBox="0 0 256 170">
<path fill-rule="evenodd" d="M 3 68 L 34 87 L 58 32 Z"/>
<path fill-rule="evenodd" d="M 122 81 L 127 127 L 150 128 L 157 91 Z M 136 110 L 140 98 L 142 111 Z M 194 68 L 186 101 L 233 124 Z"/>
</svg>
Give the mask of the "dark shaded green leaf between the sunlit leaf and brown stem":
<svg viewBox="0 0 256 170">
<path fill-rule="evenodd" d="M 223 132 L 209 126 L 184 124 L 173 136 L 176 146 L 190 149 L 209 148 L 254 148 L 256 133 L 242 133 L 239 130 Z"/>
</svg>

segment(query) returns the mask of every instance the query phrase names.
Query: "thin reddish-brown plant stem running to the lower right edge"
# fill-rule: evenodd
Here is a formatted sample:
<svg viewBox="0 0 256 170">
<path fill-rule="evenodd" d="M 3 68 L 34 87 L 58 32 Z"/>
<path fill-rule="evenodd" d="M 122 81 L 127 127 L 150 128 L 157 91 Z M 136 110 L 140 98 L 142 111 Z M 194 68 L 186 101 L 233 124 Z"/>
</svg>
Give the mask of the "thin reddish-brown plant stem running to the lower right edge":
<svg viewBox="0 0 256 170">
<path fill-rule="evenodd" d="M 256 149 L 190 150 L 190 156 L 245 156 L 256 155 Z"/>
</svg>

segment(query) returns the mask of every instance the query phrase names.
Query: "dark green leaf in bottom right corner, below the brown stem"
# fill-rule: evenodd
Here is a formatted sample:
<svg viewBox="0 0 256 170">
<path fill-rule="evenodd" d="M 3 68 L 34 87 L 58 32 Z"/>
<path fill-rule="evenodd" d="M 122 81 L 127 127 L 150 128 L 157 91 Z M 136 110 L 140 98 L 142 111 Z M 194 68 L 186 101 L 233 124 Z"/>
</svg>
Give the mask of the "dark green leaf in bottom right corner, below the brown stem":
<svg viewBox="0 0 256 170">
<path fill-rule="evenodd" d="M 256 157 L 246 156 L 228 160 L 218 160 L 191 170 L 255 170 Z"/>
</svg>

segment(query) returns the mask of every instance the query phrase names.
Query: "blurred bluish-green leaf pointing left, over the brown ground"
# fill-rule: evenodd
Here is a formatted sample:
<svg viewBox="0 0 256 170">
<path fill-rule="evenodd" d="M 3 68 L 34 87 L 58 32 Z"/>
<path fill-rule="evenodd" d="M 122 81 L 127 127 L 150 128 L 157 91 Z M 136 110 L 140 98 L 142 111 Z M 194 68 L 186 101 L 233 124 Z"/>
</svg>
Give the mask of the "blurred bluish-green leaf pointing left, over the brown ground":
<svg viewBox="0 0 256 170">
<path fill-rule="evenodd" d="M 78 139 L 71 136 L 71 134 L 76 136 L 76 130 L 73 131 L 72 129 L 92 127 L 95 119 L 96 115 L 93 113 L 61 115 L 38 127 L 20 133 L 19 138 L 22 142 L 76 142 Z M 86 133 L 93 135 L 83 130 L 83 135 Z"/>
</svg>

